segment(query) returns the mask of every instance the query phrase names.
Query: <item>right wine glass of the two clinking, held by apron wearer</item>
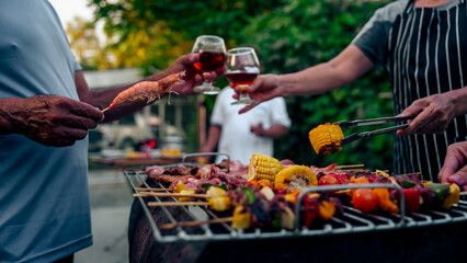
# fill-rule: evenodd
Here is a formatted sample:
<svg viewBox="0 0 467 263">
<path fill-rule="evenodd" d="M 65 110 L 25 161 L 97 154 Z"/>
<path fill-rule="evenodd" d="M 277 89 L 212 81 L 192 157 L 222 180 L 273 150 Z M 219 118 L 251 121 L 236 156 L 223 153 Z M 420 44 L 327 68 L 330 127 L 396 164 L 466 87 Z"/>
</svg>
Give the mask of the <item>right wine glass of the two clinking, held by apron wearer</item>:
<svg viewBox="0 0 467 263">
<path fill-rule="evenodd" d="M 237 47 L 227 52 L 226 78 L 231 87 L 240 87 L 239 99 L 231 104 L 251 104 L 258 101 L 248 95 L 248 87 L 260 75 L 260 61 L 251 47 Z"/>
</svg>

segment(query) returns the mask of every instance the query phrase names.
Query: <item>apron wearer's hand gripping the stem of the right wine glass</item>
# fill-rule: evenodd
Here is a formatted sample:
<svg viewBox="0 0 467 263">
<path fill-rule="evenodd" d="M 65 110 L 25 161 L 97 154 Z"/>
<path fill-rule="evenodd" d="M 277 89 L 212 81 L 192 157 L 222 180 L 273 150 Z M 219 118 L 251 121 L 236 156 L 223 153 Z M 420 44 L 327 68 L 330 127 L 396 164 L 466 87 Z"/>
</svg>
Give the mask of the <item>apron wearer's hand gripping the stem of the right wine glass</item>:
<svg viewBox="0 0 467 263">
<path fill-rule="evenodd" d="M 234 94 L 234 99 L 238 100 L 239 94 L 241 92 L 240 87 L 235 88 L 236 94 Z M 282 96 L 282 90 L 278 85 L 278 77 L 277 75 L 261 75 L 254 79 L 251 85 L 248 89 L 248 93 L 251 99 L 261 102 L 269 101 L 276 96 Z M 244 106 L 239 111 L 239 113 L 246 113 L 257 106 L 259 103 L 252 103 L 250 105 Z"/>
</svg>

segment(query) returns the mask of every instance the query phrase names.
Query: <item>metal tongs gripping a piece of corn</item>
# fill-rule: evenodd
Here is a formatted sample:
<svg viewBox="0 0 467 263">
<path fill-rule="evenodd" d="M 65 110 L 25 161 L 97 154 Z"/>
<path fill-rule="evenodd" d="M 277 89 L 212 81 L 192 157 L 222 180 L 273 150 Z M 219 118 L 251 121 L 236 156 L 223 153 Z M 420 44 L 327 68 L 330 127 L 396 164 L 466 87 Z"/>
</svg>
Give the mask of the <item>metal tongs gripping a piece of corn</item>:
<svg viewBox="0 0 467 263">
<path fill-rule="evenodd" d="M 353 127 L 358 127 L 358 126 L 368 126 L 368 125 L 379 125 L 379 124 L 386 124 L 386 123 L 394 123 L 394 122 L 403 122 L 403 121 L 408 121 L 408 119 L 412 119 L 415 116 L 403 116 L 403 117 L 383 117 L 383 118 L 369 118 L 369 119 L 356 119 L 356 121 L 341 121 L 341 122 L 337 122 L 334 124 L 339 125 L 341 128 L 353 128 Z M 398 129 L 403 129 L 407 126 L 409 126 L 409 124 L 399 124 L 392 127 L 387 127 L 387 128 L 381 128 L 381 129 L 376 129 L 376 130 L 372 130 L 372 132 L 363 132 L 363 133 L 356 133 L 353 135 L 350 135 L 345 138 L 342 139 L 341 141 L 341 146 L 346 145 L 351 141 L 354 140 L 360 140 L 366 137 L 371 137 L 371 136 L 375 136 L 375 135 L 380 135 L 380 134 L 387 134 L 387 133 L 391 133 Z"/>
</svg>

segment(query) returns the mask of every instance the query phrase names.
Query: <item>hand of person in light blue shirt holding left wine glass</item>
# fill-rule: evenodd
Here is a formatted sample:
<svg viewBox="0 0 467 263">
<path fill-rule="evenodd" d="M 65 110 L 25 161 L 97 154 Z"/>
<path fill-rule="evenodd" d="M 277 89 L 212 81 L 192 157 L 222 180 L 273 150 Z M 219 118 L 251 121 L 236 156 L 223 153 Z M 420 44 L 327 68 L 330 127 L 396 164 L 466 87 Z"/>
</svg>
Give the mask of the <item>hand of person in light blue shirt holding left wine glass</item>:
<svg viewBox="0 0 467 263">
<path fill-rule="evenodd" d="M 197 94 L 193 91 L 193 88 L 203 83 L 203 77 L 200 75 L 200 71 L 194 67 L 194 64 L 200 61 L 198 53 L 191 53 L 179 57 L 172 65 L 167 68 L 163 73 L 164 77 L 171 73 L 176 73 L 185 70 L 185 81 L 183 84 L 175 85 L 173 91 L 178 92 L 180 95 L 193 95 Z M 218 75 L 213 71 L 210 73 L 210 81 L 216 82 Z"/>
</svg>

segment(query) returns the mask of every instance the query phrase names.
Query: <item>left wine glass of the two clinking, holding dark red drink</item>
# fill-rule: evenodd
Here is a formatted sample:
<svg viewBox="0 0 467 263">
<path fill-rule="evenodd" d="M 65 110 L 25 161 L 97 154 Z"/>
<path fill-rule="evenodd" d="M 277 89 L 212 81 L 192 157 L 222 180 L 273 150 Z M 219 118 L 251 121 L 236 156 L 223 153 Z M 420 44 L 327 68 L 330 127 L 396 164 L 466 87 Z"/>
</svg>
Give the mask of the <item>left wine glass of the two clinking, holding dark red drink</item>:
<svg viewBox="0 0 467 263">
<path fill-rule="evenodd" d="M 220 89 L 214 87 L 210 81 L 210 72 L 218 72 L 226 64 L 226 46 L 224 39 L 214 35 L 201 35 L 196 37 L 192 53 L 200 53 L 200 61 L 194 67 L 201 71 L 204 82 L 193 88 L 194 91 L 202 91 L 204 94 L 217 94 Z"/>
</svg>

